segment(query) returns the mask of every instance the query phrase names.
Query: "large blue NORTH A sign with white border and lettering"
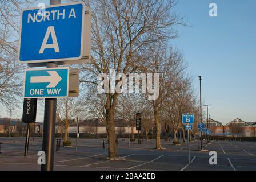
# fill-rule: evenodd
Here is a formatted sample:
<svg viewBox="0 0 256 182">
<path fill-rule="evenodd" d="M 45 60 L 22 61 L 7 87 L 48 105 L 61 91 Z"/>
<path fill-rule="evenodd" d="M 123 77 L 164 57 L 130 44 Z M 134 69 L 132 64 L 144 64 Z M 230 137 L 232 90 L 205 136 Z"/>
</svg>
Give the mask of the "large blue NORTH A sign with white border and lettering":
<svg viewBox="0 0 256 182">
<path fill-rule="evenodd" d="M 22 10 L 18 60 L 21 63 L 79 60 L 83 53 L 82 2 Z"/>
</svg>

